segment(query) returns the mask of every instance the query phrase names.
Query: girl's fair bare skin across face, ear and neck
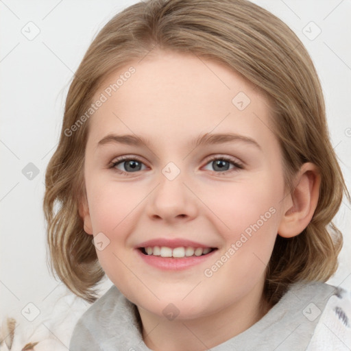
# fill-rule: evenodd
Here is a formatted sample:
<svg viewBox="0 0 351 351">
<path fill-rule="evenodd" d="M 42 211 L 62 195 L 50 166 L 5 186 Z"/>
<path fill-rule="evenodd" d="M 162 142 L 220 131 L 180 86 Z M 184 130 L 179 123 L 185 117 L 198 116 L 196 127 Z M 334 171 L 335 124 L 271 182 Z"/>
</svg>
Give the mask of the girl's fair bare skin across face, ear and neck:
<svg viewBox="0 0 351 351">
<path fill-rule="evenodd" d="M 268 128 L 267 99 L 219 62 L 156 51 L 106 77 L 95 98 L 130 65 L 134 75 L 88 122 L 84 230 L 102 232 L 110 241 L 97 250 L 99 262 L 138 306 L 149 348 L 206 350 L 269 311 L 263 284 L 274 241 L 278 233 L 293 237 L 306 228 L 317 206 L 319 175 L 313 164 L 304 164 L 295 193 L 287 194 L 278 140 Z M 232 104 L 239 92 L 251 100 L 244 110 Z M 189 144 L 199 134 L 228 132 L 252 138 L 259 147 L 245 141 Z M 112 133 L 143 136 L 150 145 L 98 145 Z M 123 155 L 137 157 L 143 166 L 129 173 L 130 162 L 113 167 Z M 229 163 L 228 170 L 218 171 L 209 156 L 230 157 L 242 168 Z M 162 173 L 169 162 L 180 170 L 174 180 Z M 269 208 L 274 215 L 206 277 L 204 270 Z M 190 239 L 218 250 L 200 265 L 162 271 L 144 263 L 134 248 L 156 238 Z M 162 313 L 170 303 L 179 311 L 173 320 Z"/>
</svg>

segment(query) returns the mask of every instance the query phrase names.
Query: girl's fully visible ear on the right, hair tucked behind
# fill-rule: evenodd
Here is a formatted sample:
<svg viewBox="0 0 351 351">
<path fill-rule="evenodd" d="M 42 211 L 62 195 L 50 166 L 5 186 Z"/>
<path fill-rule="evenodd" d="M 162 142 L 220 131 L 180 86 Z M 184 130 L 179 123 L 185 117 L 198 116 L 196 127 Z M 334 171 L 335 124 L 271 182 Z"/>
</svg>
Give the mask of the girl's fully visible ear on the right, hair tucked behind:
<svg viewBox="0 0 351 351">
<path fill-rule="evenodd" d="M 283 214 L 278 227 L 280 237 L 291 238 L 300 234 L 310 223 L 318 204 L 321 177 L 317 166 L 304 163 L 295 177 L 293 195 L 284 199 Z"/>
</svg>

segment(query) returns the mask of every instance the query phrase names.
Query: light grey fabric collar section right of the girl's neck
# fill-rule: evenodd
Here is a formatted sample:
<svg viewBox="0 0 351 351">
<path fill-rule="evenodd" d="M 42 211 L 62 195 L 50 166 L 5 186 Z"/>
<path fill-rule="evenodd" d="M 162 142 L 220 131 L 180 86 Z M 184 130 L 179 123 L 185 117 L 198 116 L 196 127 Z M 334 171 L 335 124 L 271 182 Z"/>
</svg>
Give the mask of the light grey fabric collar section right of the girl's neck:
<svg viewBox="0 0 351 351">
<path fill-rule="evenodd" d="M 295 282 L 256 324 L 213 351 L 305 351 L 330 298 L 338 299 L 341 292 L 341 289 L 324 282 Z M 314 348 L 308 351 L 317 350 L 336 349 Z"/>
</svg>

